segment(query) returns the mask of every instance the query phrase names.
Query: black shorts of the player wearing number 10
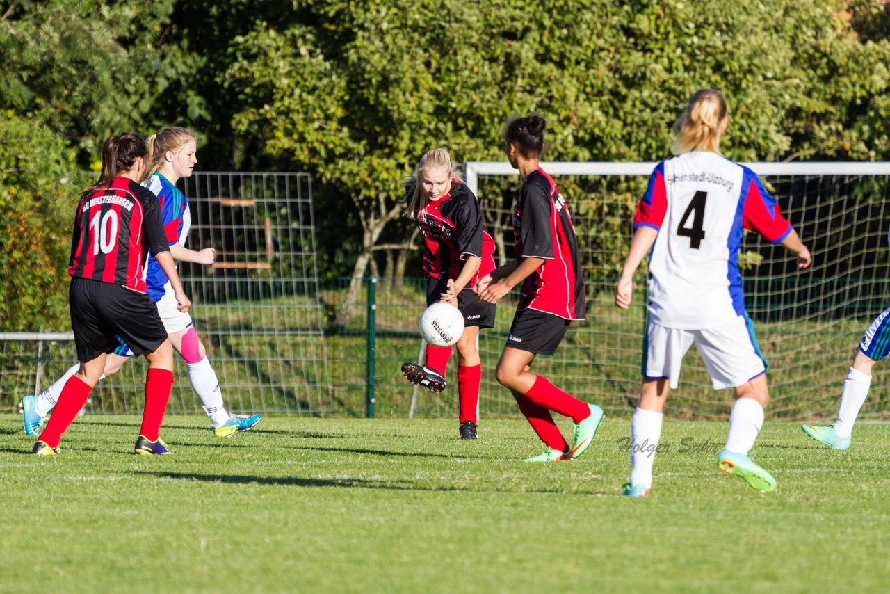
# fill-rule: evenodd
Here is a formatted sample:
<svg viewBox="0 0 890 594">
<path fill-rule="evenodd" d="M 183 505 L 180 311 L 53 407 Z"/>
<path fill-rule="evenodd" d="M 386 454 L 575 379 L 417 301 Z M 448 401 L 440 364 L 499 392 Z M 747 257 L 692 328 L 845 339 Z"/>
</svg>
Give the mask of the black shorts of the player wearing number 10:
<svg viewBox="0 0 890 594">
<path fill-rule="evenodd" d="M 145 293 L 75 277 L 71 279 L 68 305 L 79 362 L 113 353 L 120 346 L 116 335 L 136 355 L 157 350 L 167 338 L 158 306 Z"/>
</svg>

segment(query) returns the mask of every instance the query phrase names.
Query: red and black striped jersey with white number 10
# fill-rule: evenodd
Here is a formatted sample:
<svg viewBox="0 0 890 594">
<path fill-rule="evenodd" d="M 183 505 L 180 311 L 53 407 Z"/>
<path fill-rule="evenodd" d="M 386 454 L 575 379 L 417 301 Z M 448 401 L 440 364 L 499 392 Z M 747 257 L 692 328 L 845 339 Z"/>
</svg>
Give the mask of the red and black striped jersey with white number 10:
<svg viewBox="0 0 890 594">
<path fill-rule="evenodd" d="M 145 259 L 169 252 L 155 195 L 126 177 L 87 192 L 74 218 L 68 273 L 145 292 Z"/>
</svg>

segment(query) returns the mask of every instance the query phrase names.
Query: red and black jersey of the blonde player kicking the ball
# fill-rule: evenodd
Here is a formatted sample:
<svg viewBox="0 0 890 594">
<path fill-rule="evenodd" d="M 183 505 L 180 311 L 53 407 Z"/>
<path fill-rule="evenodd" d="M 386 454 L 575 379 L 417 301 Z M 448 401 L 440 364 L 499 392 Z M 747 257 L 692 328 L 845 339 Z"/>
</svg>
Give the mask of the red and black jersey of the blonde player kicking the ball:
<svg viewBox="0 0 890 594">
<path fill-rule="evenodd" d="M 424 234 L 427 278 L 457 279 L 466 256 L 481 258 L 479 271 L 466 283 L 476 281 L 495 269 L 495 240 L 482 225 L 479 199 L 459 180 L 451 180 L 451 191 L 441 200 L 429 200 L 416 213 L 417 227 Z"/>
</svg>

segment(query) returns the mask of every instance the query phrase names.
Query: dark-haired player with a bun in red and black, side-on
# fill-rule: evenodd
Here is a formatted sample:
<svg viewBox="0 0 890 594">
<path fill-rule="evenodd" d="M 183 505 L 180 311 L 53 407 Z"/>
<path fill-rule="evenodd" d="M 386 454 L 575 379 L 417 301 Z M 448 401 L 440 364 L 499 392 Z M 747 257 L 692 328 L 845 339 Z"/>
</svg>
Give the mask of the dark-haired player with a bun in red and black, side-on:
<svg viewBox="0 0 890 594">
<path fill-rule="evenodd" d="M 506 127 L 507 159 L 522 175 L 513 215 L 516 259 L 482 277 L 475 287 L 483 301 L 497 303 L 522 283 L 510 336 L 498 362 L 498 382 L 513 392 L 520 411 L 547 446 L 529 462 L 577 458 L 603 419 L 599 406 L 566 394 L 530 371 L 536 354 L 554 354 L 570 322 L 584 319 L 586 307 L 569 208 L 553 179 L 538 165 L 544 128 L 544 120 L 537 116 L 514 119 Z M 550 411 L 575 421 L 571 446 Z"/>
</svg>

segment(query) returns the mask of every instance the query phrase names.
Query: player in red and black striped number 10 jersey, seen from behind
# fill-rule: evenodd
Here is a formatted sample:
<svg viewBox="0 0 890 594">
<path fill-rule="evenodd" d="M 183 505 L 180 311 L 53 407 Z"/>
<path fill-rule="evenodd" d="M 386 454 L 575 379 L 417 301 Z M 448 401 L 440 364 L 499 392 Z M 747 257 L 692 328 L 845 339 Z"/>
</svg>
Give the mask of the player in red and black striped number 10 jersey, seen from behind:
<svg viewBox="0 0 890 594">
<path fill-rule="evenodd" d="M 80 370 L 65 383 L 53 416 L 34 444 L 36 454 L 58 452 L 61 435 L 101 377 L 106 355 L 120 346 L 118 336 L 134 354 L 144 353 L 149 360 L 135 452 L 169 453 L 158 430 L 173 387 L 173 346 L 158 308 L 145 293 L 149 248 L 169 277 L 181 311 L 188 311 L 190 301 L 176 274 L 158 199 L 138 183 L 147 154 L 141 136 L 110 136 L 102 146 L 100 179 L 77 205 L 69 307 Z"/>
</svg>

